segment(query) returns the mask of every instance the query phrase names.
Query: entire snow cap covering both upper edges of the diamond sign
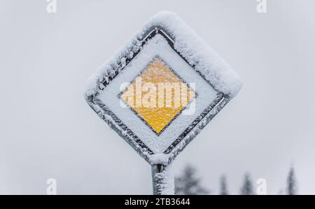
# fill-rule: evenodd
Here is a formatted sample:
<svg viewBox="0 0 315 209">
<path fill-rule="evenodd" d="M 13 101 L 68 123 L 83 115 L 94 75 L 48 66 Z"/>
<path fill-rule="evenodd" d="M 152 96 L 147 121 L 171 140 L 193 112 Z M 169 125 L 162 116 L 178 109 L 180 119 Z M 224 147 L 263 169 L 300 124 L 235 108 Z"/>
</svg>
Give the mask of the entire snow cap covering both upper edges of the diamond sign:
<svg viewBox="0 0 315 209">
<path fill-rule="evenodd" d="M 133 39 L 97 69 L 97 72 L 87 81 L 85 96 L 96 94 L 98 89 L 103 87 L 104 81 L 108 81 L 109 77 L 115 76 L 120 69 L 123 69 L 126 65 L 126 58 L 132 58 L 134 53 L 141 48 L 141 39 L 144 39 L 146 32 L 154 27 L 162 27 L 172 36 L 174 48 L 216 90 L 230 98 L 239 93 L 242 86 L 241 79 L 230 65 L 200 39 L 178 15 L 163 11 L 150 18 Z"/>
</svg>

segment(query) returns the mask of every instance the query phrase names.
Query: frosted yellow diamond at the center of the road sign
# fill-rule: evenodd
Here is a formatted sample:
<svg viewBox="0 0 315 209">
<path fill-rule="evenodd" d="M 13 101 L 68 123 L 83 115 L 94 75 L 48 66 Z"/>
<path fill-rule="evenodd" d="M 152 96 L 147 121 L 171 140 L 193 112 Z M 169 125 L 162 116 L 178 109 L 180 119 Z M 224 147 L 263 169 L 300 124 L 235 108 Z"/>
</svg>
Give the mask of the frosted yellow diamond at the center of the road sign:
<svg viewBox="0 0 315 209">
<path fill-rule="evenodd" d="M 160 134 L 195 99 L 195 93 L 162 60 L 155 58 L 120 98 Z"/>
</svg>

